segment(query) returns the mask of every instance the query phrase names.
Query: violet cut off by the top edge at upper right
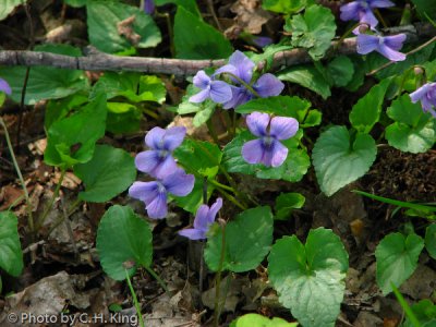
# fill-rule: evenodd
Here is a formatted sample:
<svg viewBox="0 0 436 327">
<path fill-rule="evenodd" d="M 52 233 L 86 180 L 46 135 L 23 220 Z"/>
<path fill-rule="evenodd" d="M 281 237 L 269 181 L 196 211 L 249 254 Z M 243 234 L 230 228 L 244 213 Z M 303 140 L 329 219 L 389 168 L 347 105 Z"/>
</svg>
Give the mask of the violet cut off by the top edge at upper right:
<svg viewBox="0 0 436 327">
<path fill-rule="evenodd" d="M 395 5 L 395 3 L 389 0 L 356 0 L 341 5 L 340 19 L 342 21 L 359 21 L 374 28 L 377 26 L 378 21 L 373 13 L 373 9 L 392 5 Z"/>
</svg>

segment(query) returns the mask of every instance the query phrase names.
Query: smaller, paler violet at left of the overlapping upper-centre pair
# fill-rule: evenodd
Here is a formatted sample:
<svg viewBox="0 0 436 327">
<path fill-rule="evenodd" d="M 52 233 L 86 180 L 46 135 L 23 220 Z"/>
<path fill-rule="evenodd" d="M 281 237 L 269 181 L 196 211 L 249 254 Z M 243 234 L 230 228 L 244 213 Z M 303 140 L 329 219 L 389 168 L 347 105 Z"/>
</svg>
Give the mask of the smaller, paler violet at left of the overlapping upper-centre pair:
<svg viewBox="0 0 436 327">
<path fill-rule="evenodd" d="M 223 104 L 232 97 L 229 84 L 210 78 L 204 71 L 198 71 L 193 82 L 202 90 L 190 97 L 191 102 L 203 102 L 210 98 L 214 102 Z"/>
</svg>

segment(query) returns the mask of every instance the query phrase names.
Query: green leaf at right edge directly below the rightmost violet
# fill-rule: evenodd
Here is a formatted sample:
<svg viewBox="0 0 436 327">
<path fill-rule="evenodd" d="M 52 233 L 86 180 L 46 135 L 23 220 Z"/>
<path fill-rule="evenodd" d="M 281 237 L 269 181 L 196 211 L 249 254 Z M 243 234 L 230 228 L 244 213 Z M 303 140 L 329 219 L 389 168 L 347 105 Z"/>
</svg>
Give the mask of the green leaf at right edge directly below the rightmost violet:
<svg viewBox="0 0 436 327">
<path fill-rule="evenodd" d="M 425 153 L 436 142 L 436 121 L 412 104 L 408 94 L 395 99 L 387 114 L 396 122 L 386 128 L 389 145 L 412 154 Z"/>
</svg>

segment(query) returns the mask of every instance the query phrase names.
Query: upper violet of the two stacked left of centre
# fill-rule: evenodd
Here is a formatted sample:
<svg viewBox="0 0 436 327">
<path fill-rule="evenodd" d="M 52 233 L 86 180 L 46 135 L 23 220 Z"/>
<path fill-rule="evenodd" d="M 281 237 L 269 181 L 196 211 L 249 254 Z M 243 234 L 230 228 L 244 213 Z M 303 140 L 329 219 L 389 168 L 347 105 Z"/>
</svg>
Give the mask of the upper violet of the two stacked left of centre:
<svg viewBox="0 0 436 327">
<path fill-rule="evenodd" d="M 137 154 L 136 168 L 155 178 L 164 178 L 178 169 L 172 152 L 183 142 L 185 128 L 175 126 L 168 130 L 152 129 L 145 136 L 145 144 L 150 150 Z"/>
</svg>

